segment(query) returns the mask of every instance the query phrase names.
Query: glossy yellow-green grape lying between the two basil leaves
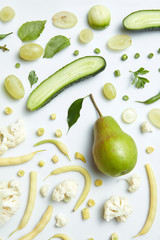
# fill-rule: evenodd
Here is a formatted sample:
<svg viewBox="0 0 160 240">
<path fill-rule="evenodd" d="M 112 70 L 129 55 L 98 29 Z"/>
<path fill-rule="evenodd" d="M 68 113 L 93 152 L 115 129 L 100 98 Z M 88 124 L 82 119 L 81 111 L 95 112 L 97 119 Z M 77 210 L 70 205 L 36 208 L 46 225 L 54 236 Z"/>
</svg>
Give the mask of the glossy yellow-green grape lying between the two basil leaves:
<svg viewBox="0 0 160 240">
<path fill-rule="evenodd" d="M 19 55 L 21 58 L 32 61 L 40 58 L 43 54 L 43 48 L 37 43 L 24 44 L 20 50 Z"/>
</svg>

